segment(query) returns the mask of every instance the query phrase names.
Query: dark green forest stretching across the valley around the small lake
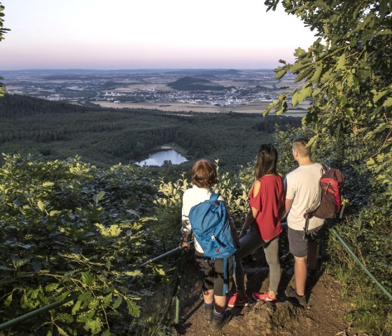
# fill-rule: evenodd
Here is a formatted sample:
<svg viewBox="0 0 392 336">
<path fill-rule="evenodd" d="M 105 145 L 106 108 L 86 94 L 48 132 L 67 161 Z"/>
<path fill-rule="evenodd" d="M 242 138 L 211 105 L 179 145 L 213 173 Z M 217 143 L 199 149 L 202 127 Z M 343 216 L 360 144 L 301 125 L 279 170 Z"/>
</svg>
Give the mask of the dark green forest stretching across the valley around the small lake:
<svg viewBox="0 0 392 336">
<path fill-rule="evenodd" d="M 188 159 L 220 159 L 234 170 L 251 161 L 275 126 L 300 126 L 292 116 L 179 114 L 154 110 L 101 109 L 22 95 L 0 100 L 0 151 L 81 156 L 98 166 L 132 163 L 160 145 L 174 143 Z"/>
</svg>

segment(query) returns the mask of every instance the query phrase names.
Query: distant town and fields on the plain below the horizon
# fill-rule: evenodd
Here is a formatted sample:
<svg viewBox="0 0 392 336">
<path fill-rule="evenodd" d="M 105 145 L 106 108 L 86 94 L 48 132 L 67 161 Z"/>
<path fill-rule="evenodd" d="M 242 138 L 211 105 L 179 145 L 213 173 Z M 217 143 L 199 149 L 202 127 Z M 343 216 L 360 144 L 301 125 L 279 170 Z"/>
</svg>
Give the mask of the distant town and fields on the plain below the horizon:
<svg viewBox="0 0 392 336">
<path fill-rule="evenodd" d="M 18 70 L 3 71 L 9 94 L 104 107 L 174 111 L 260 112 L 294 76 L 272 69 Z M 293 112 L 306 111 L 308 102 Z"/>
</svg>

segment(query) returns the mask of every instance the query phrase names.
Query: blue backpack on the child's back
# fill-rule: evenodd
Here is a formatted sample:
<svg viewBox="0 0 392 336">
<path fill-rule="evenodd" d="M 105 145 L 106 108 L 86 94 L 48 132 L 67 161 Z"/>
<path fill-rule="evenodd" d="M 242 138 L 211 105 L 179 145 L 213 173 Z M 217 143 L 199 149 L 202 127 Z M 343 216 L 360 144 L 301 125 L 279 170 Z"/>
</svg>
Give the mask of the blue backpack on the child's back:
<svg viewBox="0 0 392 336">
<path fill-rule="evenodd" d="M 205 257 L 227 258 L 237 249 L 225 203 L 218 201 L 219 194 L 211 194 L 208 201 L 190 208 L 189 222 L 197 243 Z"/>
</svg>

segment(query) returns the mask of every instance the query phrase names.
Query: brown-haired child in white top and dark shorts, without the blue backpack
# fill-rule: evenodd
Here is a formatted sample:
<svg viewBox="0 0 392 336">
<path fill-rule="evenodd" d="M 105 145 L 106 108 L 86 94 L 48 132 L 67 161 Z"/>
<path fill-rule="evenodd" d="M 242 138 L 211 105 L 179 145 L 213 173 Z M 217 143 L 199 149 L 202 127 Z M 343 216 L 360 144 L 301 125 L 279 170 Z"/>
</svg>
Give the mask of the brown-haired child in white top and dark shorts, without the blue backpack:
<svg viewBox="0 0 392 336">
<path fill-rule="evenodd" d="M 192 183 L 193 187 L 186 190 L 183 194 L 183 209 L 182 209 L 182 228 L 181 228 L 181 246 L 188 248 L 188 235 L 191 231 L 190 222 L 188 219 L 190 209 L 203 201 L 209 200 L 214 191 L 211 187 L 218 182 L 215 166 L 208 160 L 201 159 L 197 161 L 192 168 Z M 223 201 L 222 196 L 219 196 L 218 201 Z M 232 228 L 232 235 L 235 241 L 238 241 L 235 224 L 228 213 L 230 227 Z M 225 311 L 226 293 L 224 285 L 224 261 L 222 258 L 211 259 L 204 257 L 204 251 L 200 243 L 195 239 L 195 255 L 197 264 L 202 270 L 202 289 L 204 298 L 204 309 L 206 312 L 206 321 L 210 328 L 214 331 L 221 330 L 231 318 L 230 311 Z M 232 258 L 228 257 L 226 269 L 227 278 L 232 274 Z"/>
</svg>

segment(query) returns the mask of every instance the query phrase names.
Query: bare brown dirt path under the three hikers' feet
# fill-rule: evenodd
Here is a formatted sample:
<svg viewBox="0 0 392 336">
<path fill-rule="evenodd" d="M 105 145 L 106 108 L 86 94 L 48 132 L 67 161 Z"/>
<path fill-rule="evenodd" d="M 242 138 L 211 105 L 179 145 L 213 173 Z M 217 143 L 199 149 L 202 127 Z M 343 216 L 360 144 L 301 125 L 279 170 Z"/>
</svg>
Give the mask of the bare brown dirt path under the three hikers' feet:
<svg viewBox="0 0 392 336">
<path fill-rule="evenodd" d="M 293 283 L 292 270 L 284 273 L 280 293 Z M 258 269 L 248 276 L 247 292 L 267 289 L 267 270 Z M 258 289 L 257 289 L 258 288 Z M 220 332 L 211 332 L 204 321 L 200 288 L 189 295 L 190 306 L 184 309 L 176 334 L 187 336 L 365 336 L 350 328 L 344 315 L 348 308 L 342 303 L 339 284 L 332 276 L 322 274 L 309 290 L 305 308 L 296 307 L 285 295 L 276 304 L 251 302 L 248 307 L 233 308 L 232 320 Z"/>
</svg>

